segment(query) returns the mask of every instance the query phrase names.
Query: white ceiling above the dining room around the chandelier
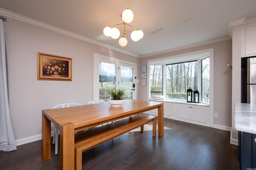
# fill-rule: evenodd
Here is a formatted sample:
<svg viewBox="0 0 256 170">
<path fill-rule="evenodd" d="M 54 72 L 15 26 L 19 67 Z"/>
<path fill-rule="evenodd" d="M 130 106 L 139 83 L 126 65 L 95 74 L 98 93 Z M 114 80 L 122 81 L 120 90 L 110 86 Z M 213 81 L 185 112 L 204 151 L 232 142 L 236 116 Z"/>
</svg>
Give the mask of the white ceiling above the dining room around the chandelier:
<svg viewBox="0 0 256 170">
<path fill-rule="evenodd" d="M 105 26 L 122 23 L 130 6 L 144 37 L 120 47 L 103 34 Z M 256 0 L 0 0 L 0 8 L 82 35 L 108 47 L 146 57 L 161 51 L 228 36 L 228 22 L 256 17 Z M 185 21 L 190 17 L 190 21 Z M 163 31 L 150 34 L 155 27 Z M 123 27 L 118 27 L 122 29 Z"/>
</svg>

